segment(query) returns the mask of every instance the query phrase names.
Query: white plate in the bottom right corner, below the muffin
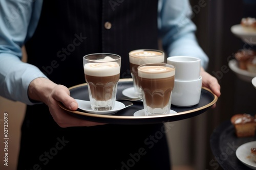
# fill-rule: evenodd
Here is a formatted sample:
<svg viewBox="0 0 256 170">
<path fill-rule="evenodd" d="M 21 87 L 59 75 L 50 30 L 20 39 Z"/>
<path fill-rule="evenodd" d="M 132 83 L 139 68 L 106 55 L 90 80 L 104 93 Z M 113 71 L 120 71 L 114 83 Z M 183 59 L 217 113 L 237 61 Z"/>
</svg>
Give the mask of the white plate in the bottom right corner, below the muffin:
<svg viewBox="0 0 256 170">
<path fill-rule="evenodd" d="M 238 147 L 236 155 L 243 164 L 252 169 L 256 169 L 256 162 L 252 160 L 252 157 L 250 155 L 251 148 L 256 148 L 256 141 L 242 144 L 240 147 Z"/>
</svg>

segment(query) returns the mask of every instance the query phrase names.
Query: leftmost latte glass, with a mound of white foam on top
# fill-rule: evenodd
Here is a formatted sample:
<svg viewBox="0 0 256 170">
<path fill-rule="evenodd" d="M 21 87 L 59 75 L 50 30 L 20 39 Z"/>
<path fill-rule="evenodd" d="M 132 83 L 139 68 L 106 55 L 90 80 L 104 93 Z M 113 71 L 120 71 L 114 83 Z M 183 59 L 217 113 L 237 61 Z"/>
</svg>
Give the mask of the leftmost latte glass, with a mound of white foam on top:
<svg viewBox="0 0 256 170">
<path fill-rule="evenodd" d="M 83 57 L 84 77 L 93 110 L 112 110 L 115 106 L 121 57 L 115 54 L 89 54 Z"/>
</svg>

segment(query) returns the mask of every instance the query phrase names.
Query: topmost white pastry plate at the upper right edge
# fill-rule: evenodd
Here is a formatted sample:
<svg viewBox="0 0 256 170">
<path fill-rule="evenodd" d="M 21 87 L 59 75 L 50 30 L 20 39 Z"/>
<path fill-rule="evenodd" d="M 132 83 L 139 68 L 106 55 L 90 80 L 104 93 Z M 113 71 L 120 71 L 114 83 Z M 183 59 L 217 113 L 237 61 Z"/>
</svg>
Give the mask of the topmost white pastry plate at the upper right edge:
<svg viewBox="0 0 256 170">
<path fill-rule="evenodd" d="M 240 24 L 232 26 L 231 32 L 241 38 L 245 43 L 256 44 L 256 32 L 244 31 Z"/>
</svg>

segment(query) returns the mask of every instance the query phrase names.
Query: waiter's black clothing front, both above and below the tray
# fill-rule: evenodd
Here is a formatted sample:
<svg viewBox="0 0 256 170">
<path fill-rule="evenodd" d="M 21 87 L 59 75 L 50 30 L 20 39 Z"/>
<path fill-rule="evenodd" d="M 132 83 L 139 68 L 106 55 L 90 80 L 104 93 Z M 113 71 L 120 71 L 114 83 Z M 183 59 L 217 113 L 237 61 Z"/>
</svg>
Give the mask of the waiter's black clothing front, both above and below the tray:
<svg viewBox="0 0 256 170">
<path fill-rule="evenodd" d="M 158 1 L 44 1 L 28 63 L 50 80 L 85 83 L 82 57 L 122 57 L 120 78 L 131 78 L 129 52 L 158 48 Z M 111 28 L 104 27 L 105 22 Z M 108 25 L 110 26 L 110 25 Z M 27 106 L 18 169 L 170 169 L 163 124 L 60 128 L 45 104 Z"/>
</svg>

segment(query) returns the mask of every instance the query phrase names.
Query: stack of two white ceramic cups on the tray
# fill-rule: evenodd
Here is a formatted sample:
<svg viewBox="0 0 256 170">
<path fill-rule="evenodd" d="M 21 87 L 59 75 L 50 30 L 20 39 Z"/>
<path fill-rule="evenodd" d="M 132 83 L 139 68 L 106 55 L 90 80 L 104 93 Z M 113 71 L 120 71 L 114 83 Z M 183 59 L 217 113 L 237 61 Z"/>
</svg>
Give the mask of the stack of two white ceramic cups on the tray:
<svg viewBox="0 0 256 170">
<path fill-rule="evenodd" d="M 173 56 L 167 63 L 175 66 L 175 84 L 172 92 L 172 105 L 190 107 L 200 101 L 202 77 L 201 59 L 189 56 Z"/>
</svg>

